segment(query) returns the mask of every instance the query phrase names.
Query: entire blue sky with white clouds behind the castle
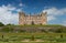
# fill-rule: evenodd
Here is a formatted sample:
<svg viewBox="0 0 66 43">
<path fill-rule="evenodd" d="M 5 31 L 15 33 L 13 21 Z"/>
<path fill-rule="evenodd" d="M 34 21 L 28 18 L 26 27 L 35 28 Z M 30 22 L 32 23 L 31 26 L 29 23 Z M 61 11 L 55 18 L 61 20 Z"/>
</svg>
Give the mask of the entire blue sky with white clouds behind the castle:
<svg viewBox="0 0 66 43">
<path fill-rule="evenodd" d="M 0 22 L 19 24 L 19 12 L 47 12 L 47 24 L 66 25 L 66 0 L 0 0 Z"/>
</svg>

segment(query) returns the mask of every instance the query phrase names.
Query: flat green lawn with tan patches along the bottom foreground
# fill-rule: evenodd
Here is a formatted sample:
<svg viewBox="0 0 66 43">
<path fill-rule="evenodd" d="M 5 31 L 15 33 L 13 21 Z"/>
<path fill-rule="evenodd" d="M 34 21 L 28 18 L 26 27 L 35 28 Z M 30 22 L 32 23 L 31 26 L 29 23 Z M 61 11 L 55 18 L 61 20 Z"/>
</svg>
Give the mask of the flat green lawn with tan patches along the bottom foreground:
<svg viewBox="0 0 66 43">
<path fill-rule="evenodd" d="M 0 43 L 66 43 L 66 33 L 0 33 Z"/>
</svg>

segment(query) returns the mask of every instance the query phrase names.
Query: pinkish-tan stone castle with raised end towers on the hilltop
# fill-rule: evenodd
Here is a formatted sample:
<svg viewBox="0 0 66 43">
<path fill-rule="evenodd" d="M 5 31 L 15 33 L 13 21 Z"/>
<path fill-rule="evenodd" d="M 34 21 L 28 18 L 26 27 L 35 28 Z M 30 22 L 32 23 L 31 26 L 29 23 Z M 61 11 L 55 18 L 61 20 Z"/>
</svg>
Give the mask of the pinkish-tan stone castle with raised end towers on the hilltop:
<svg viewBox="0 0 66 43">
<path fill-rule="evenodd" d="M 25 14 L 24 12 L 19 12 L 19 24 L 46 24 L 47 23 L 47 17 L 46 12 L 42 12 L 40 14 Z"/>
</svg>

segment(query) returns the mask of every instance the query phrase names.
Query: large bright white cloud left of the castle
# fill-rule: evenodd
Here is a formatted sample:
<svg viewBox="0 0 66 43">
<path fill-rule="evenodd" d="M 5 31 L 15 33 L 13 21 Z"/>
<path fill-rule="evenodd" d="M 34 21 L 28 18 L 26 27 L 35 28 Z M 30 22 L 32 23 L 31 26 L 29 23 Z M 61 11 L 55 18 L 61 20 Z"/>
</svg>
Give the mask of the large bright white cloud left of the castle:
<svg viewBox="0 0 66 43">
<path fill-rule="evenodd" d="M 12 13 L 13 10 L 18 10 L 15 7 L 11 4 L 0 7 L 0 22 L 8 24 L 8 23 L 18 23 L 19 15 L 18 13 Z M 21 10 L 21 9 L 19 9 Z"/>
</svg>

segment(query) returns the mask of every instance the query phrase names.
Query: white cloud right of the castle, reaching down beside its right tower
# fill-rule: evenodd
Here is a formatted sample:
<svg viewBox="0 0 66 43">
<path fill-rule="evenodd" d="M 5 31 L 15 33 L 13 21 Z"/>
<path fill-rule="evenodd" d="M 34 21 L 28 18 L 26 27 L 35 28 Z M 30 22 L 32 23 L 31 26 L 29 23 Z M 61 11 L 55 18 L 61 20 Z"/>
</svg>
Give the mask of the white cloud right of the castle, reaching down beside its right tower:
<svg viewBox="0 0 66 43">
<path fill-rule="evenodd" d="M 56 20 L 56 15 L 66 14 L 66 8 L 57 9 L 57 8 L 50 8 L 43 10 L 43 12 L 47 12 L 47 21 Z"/>
</svg>

